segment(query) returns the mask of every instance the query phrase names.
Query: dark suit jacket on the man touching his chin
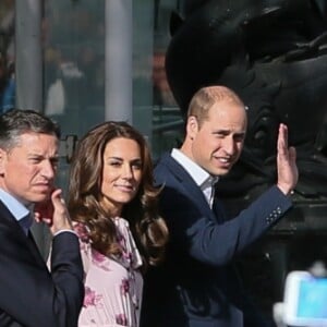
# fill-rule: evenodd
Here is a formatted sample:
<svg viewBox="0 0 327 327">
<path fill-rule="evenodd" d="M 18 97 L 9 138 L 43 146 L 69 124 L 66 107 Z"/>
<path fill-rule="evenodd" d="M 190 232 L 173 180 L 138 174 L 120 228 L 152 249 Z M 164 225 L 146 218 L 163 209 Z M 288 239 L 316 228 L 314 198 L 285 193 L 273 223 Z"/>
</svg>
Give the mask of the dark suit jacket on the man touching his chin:
<svg viewBox="0 0 327 327">
<path fill-rule="evenodd" d="M 53 238 L 50 274 L 36 244 L 0 201 L 0 326 L 76 327 L 83 304 L 77 237 Z"/>
</svg>

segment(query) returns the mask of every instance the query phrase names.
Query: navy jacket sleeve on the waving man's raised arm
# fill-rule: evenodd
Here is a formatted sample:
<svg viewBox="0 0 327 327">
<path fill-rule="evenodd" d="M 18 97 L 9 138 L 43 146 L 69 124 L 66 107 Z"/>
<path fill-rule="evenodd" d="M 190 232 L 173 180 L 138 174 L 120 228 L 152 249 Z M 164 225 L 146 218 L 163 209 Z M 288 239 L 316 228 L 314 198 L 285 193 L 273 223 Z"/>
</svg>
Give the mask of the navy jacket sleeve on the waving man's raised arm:
<svg viewBox="0 0 327 327">
<path fill-rule="evenodd" d="M 192 198 L 187 190 L 169 180 L 159 203 L 173 249 L 214 266 L 229 263 L 291 207 L 290 199 L 272 186 L 239 216 L 218 222 L 204 214 L 199 199 Z"/>
</svg>

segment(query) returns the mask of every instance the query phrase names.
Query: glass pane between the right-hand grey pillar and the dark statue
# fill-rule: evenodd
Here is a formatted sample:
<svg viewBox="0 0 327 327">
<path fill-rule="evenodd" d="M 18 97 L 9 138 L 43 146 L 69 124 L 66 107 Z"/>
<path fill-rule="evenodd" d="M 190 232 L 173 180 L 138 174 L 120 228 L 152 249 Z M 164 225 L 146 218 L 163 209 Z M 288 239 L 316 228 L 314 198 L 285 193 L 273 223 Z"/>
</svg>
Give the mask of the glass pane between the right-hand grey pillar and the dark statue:
<svg viewBox="0 0 327 327">
<path fill-rule="evenodd" d="M 149 138 L 154 157 L 178 146 L 183 123 L 169 88 L 165 56 L 177 0 L 134 1 L 133 120 Z"/>
</svg>

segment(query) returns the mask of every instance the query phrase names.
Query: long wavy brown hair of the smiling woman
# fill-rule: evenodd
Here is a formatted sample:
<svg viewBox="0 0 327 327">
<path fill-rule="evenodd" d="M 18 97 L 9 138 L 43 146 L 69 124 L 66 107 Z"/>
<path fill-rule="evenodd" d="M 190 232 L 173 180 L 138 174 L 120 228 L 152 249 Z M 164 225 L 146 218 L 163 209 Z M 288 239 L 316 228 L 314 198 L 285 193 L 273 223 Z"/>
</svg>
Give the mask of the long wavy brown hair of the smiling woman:
<svg viewBox="0 0 327 327">
<path fill-rule="evenodd" d="M 105 255 L 119 255 L 112 215 L 100 205 L 104 152 L 117 137 L 134 140 L 142 154 L 142 181 L 135 197 L 124 205 L 122 217 L 130 223 L 145 267 L 164 258 L 168 229 L 158 215 L 160 189 L 154 186 L 153 161 L 143 135 L 126 122 L 108 121 L 90 130 L 78 143 L 70 171 L 68 207 L 74 221 L 89 230 L 92 246 Z"/>
</svg>

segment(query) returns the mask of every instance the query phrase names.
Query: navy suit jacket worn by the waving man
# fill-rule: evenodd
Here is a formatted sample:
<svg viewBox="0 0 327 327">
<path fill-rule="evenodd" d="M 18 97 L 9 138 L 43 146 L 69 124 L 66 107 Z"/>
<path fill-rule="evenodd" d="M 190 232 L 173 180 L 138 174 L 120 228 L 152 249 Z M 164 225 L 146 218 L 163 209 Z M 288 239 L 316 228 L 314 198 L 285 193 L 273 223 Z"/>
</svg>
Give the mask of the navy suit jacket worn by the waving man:
<svg viewBox="0 0 327 327">
<path fill-rule="evenodd" d="M 142 327 L 263 327 L 247 315 L 233 258 L 291 207 L 272 186 L 238 217 L 227 220 L 215 202 L 209 208 L 201 189 L 170 155 L 155 169 L 165 187 L 160 209 L 170 231 L 167 261 L 145 278 Z M 244 325 L 245 326 L 245 325 Z"/>
</svg>

